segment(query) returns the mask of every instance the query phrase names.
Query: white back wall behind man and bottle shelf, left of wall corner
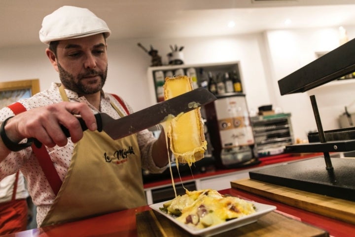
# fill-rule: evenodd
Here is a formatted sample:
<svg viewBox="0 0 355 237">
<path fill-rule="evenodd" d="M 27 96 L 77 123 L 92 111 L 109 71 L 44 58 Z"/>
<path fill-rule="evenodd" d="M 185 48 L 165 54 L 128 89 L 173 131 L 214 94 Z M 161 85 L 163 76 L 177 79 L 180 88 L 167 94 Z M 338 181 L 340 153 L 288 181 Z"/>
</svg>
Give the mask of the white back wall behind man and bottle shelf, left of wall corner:
<svg viewBox="0 0 355 237">
<path fill-rule="evenodd" d="M 261 48 L 265 48 L 261 34 L 186 39 L 108 39 L 108 75 L 104 89 L 122 96 L 134 110 L 151 105 L 146 89 L 150 56 L 137 46 L 138 42 L 147 48 L 150 44 L 157 48 L 164 64 L 167 64 L 170 44 L 184 46 L 185 64 L 240 61 L 249 108 L 270 103 L 260 57 Z M 39 78 L 41 90 L 47 88 L 50 82 L 59 81 L 44 49 L 45 45 L 41 44 L 0 49 L 0 80 Z M 255 80 L 258 81 L 256 84 Z"/>
</svg>

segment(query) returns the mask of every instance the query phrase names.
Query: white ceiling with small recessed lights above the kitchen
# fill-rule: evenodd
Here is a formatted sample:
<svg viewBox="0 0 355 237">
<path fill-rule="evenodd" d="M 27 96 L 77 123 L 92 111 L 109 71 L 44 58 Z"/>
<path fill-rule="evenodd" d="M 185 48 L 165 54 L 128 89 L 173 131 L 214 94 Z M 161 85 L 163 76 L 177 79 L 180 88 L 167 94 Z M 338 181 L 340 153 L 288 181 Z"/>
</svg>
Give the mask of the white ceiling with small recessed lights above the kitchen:
<svg viewBox="0 0 355 237">
<path fill-rule="evenodd" d="M 108 24 L 111 39 L 355 25 L 355 0 L 0 0 L 0 47 L 40 44 L 43 17 L 63 5 L 92 10 Z M 292 23 L 285 26 L 287 18 Z M 234 28 L 227 27 L 231 20 Z"/>
</svg>

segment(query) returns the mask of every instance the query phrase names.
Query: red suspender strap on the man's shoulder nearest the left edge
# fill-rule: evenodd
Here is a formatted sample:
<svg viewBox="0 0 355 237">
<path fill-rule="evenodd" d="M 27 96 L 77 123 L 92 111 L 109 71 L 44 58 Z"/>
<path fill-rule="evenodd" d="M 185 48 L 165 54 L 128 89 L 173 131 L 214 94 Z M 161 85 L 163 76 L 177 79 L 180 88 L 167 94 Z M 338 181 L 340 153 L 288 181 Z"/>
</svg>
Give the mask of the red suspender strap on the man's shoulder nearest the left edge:
<svg viewBox="0 0 355 237">
<path fill-rule="evenodd" d="M 7 107 L 10 108 L 15 115 L 26 111 L 26 108 L 19 102 L 16 102 Z M 62 186 L 62 180 L 59 178 L 54 164 L 51 158 L 49 157 L 47 149 L 45 148 L 45 146 L 37 148 L 35 144 L 32 144 L 32 150 L 35 153 L 38 163 L 41 166 L 43 173 L 49 182 L 49 185 L 51 186 L 54 194 L 57 196 L 60 187 Z"/>
</svg>

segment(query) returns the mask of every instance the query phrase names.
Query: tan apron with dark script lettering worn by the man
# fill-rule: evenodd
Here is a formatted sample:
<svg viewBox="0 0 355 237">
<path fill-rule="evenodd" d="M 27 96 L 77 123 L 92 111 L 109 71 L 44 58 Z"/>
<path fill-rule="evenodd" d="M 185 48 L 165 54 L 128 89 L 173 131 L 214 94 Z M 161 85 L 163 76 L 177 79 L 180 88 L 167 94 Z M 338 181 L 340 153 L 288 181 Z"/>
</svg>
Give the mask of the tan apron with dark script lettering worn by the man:
<svg viewBox="0 0 355 237">
<path fill-rule="evenodd" d="M 63 101 L 69 101 L 63 87 L 60 91 Z M 41 226 L 142 205 L 146 200 L 136 135 L 112 140 L 105 132 L 86 130 L 74 144 L 68 173 Z"/>
</svg>

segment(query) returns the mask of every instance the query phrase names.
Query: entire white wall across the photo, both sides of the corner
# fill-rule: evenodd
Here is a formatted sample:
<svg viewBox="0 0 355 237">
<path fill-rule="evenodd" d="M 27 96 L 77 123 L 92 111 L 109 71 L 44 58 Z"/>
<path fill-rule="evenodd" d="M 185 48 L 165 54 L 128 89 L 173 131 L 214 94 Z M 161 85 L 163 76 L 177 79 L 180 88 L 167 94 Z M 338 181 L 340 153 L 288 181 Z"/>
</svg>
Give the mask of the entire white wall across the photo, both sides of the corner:
<svg viewBox="0 0 355 237">
<path fill-rule="evenodd" d="M 355 34 L 355 30 L 347 30 L 352 39 L 350 33 Z M 152 44 L 159 50 L 164 64 L 167 64 L 169 45 L 183 45 L 185 64 L 240 61 L 249 109 L 257 110 L 267 104 L 281 107 L 284 112 L 292 114 L 295 137 L 305 139 L 307 131 L 316 129 L 309 93 L 280 96 L 277 81 L 315 60 L 315 52 L 334 49 L 338 45 L 337 34 L 337 29 L 319 29 L 228 37 L 108 39 L 108 76 L 104 89 L 122 96 L 136 111 L 150 106 L 147 90 L 150 56 L 137 43 L 141 42 L 147 48 Z M 52 81 L 59 81 L 44 49 L 45 45 L 40 42 L 27 47 L 0 48 L 0 81 L 38 78 L 41 90 L 48 88 Z M 337 117 L 344 105 L 354 100 L 353 87 L 353 84 L 345 86 L 347 92 L 340 87 L 339 91 L 330 87 L 316 91 L 320 93 L 316 98 L 324 130 L 337 128 Z"/>
</svg>

